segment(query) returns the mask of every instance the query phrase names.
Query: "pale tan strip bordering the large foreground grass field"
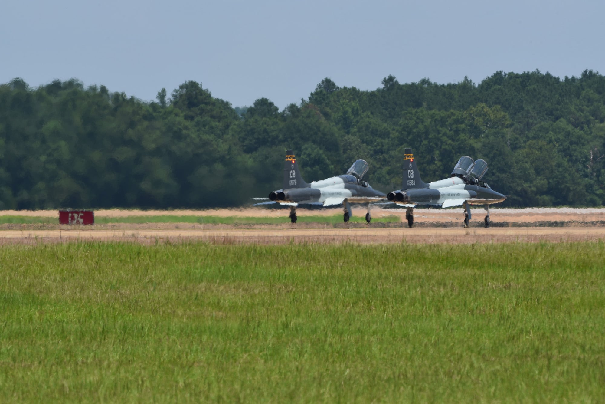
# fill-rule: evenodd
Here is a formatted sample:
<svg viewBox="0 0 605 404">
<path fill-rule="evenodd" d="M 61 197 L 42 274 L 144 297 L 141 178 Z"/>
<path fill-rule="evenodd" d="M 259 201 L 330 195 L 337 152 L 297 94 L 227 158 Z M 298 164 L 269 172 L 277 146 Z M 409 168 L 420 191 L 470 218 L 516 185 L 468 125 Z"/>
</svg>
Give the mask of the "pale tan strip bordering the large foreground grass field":
<svg viewBox="0 0 605 404">
<path fill-rule="evenodd" d="M 605 227 L 491 229 L 232 229 L 232 230 L 4 230 L 0 244 L 133 241 L 142 244 L 206 241 L 217 244 L 287 243 L 515 243 L 605 241 Z"/>
</svg>

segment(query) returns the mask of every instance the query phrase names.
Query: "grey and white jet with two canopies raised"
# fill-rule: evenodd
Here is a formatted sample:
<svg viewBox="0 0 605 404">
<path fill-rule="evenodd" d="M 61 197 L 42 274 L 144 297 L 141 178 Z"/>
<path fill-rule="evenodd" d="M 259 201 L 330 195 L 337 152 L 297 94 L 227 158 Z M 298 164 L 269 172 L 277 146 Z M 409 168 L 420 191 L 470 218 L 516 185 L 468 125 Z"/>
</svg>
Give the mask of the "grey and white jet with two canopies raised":
<svg viewBox="0 0 605 404">
<path fill-rule="evenodd" d="M 450 178 L 426 184 L 420 179 L 412 150 L 405 149 L 402 189 L 389 192 L 387 199 L 407 207 L 405 218 L 410 227 L 414 224 L 414 207 L 419 204 L 440 207 L 462 205 L 465 208 L 465 227 L 468 227 L 471 219 L 470 206 L 483 205 L 487 211 L 485 227 L 489 227 L 489 205 L 500 203 L 506 197 L 481 180 L 486 171 L 488 164 L 485 160 L 473 161 L 472 158 L 463 156 L 458 160 Z"/>
</svg>

